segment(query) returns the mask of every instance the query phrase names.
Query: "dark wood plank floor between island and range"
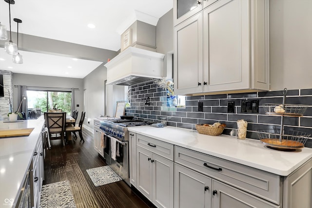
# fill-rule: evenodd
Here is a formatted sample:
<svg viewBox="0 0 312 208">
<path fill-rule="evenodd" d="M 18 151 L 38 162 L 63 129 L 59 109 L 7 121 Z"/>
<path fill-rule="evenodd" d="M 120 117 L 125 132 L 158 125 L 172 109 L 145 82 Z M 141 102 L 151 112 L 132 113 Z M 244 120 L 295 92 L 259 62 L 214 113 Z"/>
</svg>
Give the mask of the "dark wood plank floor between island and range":
<svg viewBox="0 0 312 208">
<path fill-rule="evenodd" d="M 68 180 L 77 208 L 149 208 L 153 207 L 124 181 L 95 187 L 86 169 L 106 164 L 94 149 L 92 135 L 83 133 L 84 143 L 72 141 L 64 147 L 60 140 L 51 141 L 46 150 L 43 184 Z M 143 199 L 143 200 L 142 200 Z"/>
</svg>

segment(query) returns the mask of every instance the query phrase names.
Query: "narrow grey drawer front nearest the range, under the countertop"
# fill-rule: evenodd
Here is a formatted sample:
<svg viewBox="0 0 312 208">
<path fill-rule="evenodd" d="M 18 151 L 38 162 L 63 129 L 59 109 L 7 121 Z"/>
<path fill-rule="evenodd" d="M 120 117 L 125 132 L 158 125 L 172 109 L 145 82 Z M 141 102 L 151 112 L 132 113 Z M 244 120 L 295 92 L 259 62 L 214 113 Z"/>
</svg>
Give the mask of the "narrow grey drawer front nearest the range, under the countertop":
<svg viewBox="0 0 312 208">
<path fill-rule="evenodd" d="M 169 160 L 174 160 L 174 145 L 162 142 L 151 137 L 137 134 L 137 146 L 163 156 Z"/>
</svg>

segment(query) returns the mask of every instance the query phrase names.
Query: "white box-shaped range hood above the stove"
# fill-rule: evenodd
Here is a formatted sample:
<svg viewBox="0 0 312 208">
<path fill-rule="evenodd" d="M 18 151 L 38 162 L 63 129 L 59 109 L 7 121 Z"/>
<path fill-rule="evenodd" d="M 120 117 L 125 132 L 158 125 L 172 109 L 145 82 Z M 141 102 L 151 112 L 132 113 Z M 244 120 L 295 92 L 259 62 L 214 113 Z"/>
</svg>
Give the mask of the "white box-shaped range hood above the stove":
<svg viewBox="0 0 312 208">
<path fill-rule="evenodd" d="M 164 76 L 165 55 L 135 47 L 128 47 L 107 62 L 107 84 L 134 85 Z"/>
</svg>

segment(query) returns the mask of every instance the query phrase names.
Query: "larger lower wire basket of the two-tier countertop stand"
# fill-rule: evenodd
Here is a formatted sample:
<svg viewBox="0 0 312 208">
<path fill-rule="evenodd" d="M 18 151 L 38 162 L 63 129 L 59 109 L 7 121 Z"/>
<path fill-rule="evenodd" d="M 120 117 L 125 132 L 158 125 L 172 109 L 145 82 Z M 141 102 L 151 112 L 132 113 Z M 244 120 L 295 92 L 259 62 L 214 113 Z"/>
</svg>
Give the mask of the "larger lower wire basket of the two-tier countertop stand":
<svg viewBox="0 0 312 208">
<path fill-rule="evenodd" d="M 311 134 L 299 131 L 275 129 L 261 129 L 256 131 L 260 141 L 267 146 L 278 149 L 300 149 L 304 148 L 304 144 Z"/>
</svg>

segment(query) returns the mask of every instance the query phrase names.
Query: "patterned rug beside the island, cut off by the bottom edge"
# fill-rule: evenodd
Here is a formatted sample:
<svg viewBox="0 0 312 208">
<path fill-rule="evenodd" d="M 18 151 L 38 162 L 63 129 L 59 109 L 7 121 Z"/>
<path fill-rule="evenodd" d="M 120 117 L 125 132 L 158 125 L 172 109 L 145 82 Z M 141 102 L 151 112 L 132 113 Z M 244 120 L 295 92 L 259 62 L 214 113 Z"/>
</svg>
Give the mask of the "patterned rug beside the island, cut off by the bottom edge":
<svg viewBox="0 0 312 208">
<path fill-rule="evenodd" d="M 41 208 L 76 208 L 69 181 L 61 181 L 42 186 Z"/>
</svg>

